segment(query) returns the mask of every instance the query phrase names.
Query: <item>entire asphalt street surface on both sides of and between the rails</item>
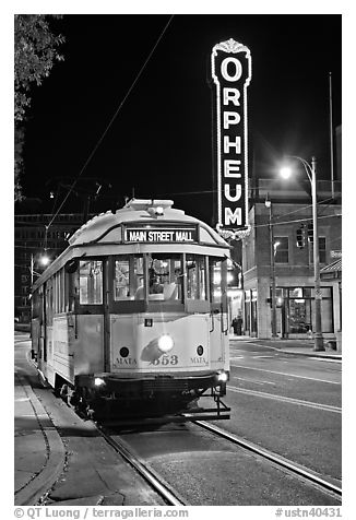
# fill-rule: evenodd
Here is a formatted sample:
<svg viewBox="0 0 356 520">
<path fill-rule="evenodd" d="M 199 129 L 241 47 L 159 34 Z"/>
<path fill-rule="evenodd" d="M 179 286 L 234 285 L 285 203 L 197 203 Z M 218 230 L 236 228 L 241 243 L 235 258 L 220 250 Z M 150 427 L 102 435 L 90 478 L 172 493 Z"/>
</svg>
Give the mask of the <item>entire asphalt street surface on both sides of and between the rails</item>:
<svg viewBox="0 0 356 520">
<path fill-rule="evenodd" d="M 17 344 L 15 369 L 27 373 Z M 294 460 L 323 476 L 341 478 L 341 364 L 283 354 L 253 342 L 232 346 L 226 402 L 232 419 L 218 426 Z M 48 389 L 35 388 L 68 452 L 62 477 L 47 504 L 159 504 L 127 464 Z M 158 434 L 158 435 L 157 435 Z M 129 435 L 138 453 L 193 505 L 333 505 L 318 489 L 288 477 L 254 456 L 193 424 Z"/>
</svg>

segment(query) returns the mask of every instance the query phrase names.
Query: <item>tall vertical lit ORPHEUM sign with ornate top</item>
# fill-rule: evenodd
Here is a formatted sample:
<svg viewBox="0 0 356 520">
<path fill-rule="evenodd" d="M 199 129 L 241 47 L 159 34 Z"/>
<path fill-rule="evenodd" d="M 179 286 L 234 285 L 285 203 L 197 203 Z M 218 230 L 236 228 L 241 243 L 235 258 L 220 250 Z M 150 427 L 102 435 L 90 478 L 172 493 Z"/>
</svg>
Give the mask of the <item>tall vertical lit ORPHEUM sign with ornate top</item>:
<svg viewBox="0 0 356 520">
<path fill-rule="evenodd" d="M 217 229 L 234 235 L 248 228 L 250 50 L 230 38 L 213 47 L 211 64 L 215 85 Z"/>
</svg>

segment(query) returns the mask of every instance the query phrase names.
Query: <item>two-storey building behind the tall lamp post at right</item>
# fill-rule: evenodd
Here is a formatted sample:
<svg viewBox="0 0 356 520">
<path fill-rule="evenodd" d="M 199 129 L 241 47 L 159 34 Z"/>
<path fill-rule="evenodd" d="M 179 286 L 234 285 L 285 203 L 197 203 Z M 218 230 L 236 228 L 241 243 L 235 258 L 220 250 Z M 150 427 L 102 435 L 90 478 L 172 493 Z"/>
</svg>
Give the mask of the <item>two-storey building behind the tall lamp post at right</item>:
<svg viewBox="0 0 356 520">
<path fill-rule="evenodd" d="M 318 182 L 320 268 L 342 251 L 341 182 L 331 199 L 330 182 Z M 271 202 L 266 206 L 265 200 Z M 315 330 L 312 209 L 306 190 L 290 191 L 260 179 L 249 211 L 251 233 L 242 240 L 245 334 L 272 336 L 272 288 L 275 286 L 276 334 L 310 338 Z M 341 330 L 341 291 L 321 280 L 321 320 L 325 339 Z"/>
</svg>

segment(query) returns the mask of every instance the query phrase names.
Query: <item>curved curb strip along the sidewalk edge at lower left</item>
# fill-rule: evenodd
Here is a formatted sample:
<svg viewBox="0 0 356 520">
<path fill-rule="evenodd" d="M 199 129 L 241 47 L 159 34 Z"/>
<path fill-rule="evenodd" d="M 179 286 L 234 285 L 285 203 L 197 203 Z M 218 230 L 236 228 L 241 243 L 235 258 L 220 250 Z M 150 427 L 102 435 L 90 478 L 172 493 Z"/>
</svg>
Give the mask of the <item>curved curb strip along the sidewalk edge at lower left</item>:
<svg viewBox="0 0 356 520">
<path fill-rule="evenodd" d="M 35 475 L 27 484 L 25 484 L 22 489 L 19 489 L 14 494 L 15 506 L 34 506 L 62 473 L 66 463 L 66 449 L 51 418 L 33 391 L 32 387 L 26 383 L 25 379 L 21 375 L 17 374 L 17 377 L 28 395 L 31 404 L 34 409 L 34 415 L 37 418 L 47 446 L 47 460 L 44 468 L 41 468 L 38 474 Z M 44 426 L 43 423 L 45 421 L 50 422 L 51 426 L 49 428 Z"/>
</svg>

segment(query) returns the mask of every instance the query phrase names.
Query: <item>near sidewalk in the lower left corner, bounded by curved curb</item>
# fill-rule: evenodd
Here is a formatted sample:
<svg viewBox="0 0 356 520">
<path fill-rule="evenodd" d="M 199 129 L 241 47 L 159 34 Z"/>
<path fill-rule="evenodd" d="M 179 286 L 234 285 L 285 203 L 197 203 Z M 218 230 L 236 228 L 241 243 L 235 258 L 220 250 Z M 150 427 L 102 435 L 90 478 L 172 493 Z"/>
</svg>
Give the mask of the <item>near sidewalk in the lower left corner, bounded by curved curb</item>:
<svg viewBox="0 0 356 520">
<path fill-rule="evenodd" d="M 16 367 L 14 436 L 14 505 L 36 505 L 63 470 L 66 450 L 47 412 Z"/>
</svg>

